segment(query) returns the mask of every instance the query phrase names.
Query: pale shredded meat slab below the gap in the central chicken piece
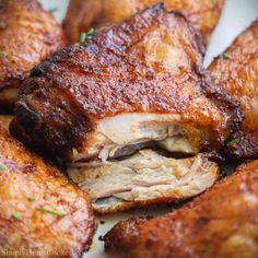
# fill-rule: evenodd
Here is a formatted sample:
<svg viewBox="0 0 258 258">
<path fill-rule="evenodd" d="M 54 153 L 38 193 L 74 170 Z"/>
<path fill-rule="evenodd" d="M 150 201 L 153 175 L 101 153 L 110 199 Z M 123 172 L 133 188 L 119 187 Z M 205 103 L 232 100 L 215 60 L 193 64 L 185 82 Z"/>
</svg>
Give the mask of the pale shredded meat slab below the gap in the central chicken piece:
<svg viewBox="0 0 258 258">
<path fill-rule="evenodd" d="M 89 192 L 98 213 L 181 200 L 211 187 L 219 167 L 202 154 L 183 160 L 143 150 L 119 162 L 78 163 L 70 177 Z"/>
</svg>

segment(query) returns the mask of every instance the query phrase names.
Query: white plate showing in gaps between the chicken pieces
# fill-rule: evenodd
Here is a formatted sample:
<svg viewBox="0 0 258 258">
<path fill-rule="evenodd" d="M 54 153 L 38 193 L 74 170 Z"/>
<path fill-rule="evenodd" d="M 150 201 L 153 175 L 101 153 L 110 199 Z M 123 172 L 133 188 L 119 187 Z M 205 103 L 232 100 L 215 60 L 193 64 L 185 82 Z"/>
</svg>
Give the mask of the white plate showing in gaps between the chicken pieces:
<svg viewBox="0 0 258 258">
<path fill-rule="evenodd" d="M 83 0 L 82 0 L 83 1 Z M 189 0 L 191 1 L 191 0 Z M 66 13 L 68 0 L 40 0 L 46 10 L 58 9 L 54 15 L 60 22 Z M 227 0 L 216 30 L 214 31 L 207 51 L 204 64 L 208 66 L 213 57 L 221 54 L 232 40 L 253 21 L 258 19 L 258 0 Z M 98 241 L 115 223 L 131 215 L 156 215 L 169 211 L 171 208 L 159 210 L 138 210 L 115 215 L 97 218 L 98 230 L 94 237 L 90 253 L 84 258 L 104 258 L 103 243 Z M 99 222 L 104 221 L 105 224 Z"/>
</svg>

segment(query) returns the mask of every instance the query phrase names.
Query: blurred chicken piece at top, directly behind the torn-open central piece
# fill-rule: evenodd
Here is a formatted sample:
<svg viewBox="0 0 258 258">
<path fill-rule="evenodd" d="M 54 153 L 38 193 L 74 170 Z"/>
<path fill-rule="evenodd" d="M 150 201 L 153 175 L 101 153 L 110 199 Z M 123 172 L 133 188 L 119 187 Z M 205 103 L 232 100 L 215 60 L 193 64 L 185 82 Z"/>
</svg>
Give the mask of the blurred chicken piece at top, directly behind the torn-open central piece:
<svg viewBox="0 0 258 258">
<path fill-rule="evenodd" d="M 126 17 L 151 7 L 159 0 L 70 0 L 63 21 L 64 32 L 70 43 L 79 40 L 82 32 L 91 27 L 106 26 L 124 21 Z M 180 11 L 194 23 L 209 42 L 215 27 L 224 0 L 165 0 L 168 11 Z"/>
</svg>

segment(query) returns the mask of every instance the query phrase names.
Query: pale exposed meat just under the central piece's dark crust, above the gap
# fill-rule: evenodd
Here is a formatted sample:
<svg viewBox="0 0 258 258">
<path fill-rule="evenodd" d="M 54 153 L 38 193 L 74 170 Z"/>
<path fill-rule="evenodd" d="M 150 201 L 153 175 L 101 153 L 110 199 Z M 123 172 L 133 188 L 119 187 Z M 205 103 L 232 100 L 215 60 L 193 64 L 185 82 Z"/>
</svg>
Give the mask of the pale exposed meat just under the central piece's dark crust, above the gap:
<svg viewBox="0 0 258 258">
<path fill-rule="evenodd" d="M 180 125 L 178 115 L 134 113 L 107 117 L 97 121 L 83 154 L 73 152 L 73 161 L 91 156 L 106 161 L 155 145 L 169 152 L 195 154 L 198 143 L 186 138 L 187 129 L 187 125 Z"/>
</svg>

